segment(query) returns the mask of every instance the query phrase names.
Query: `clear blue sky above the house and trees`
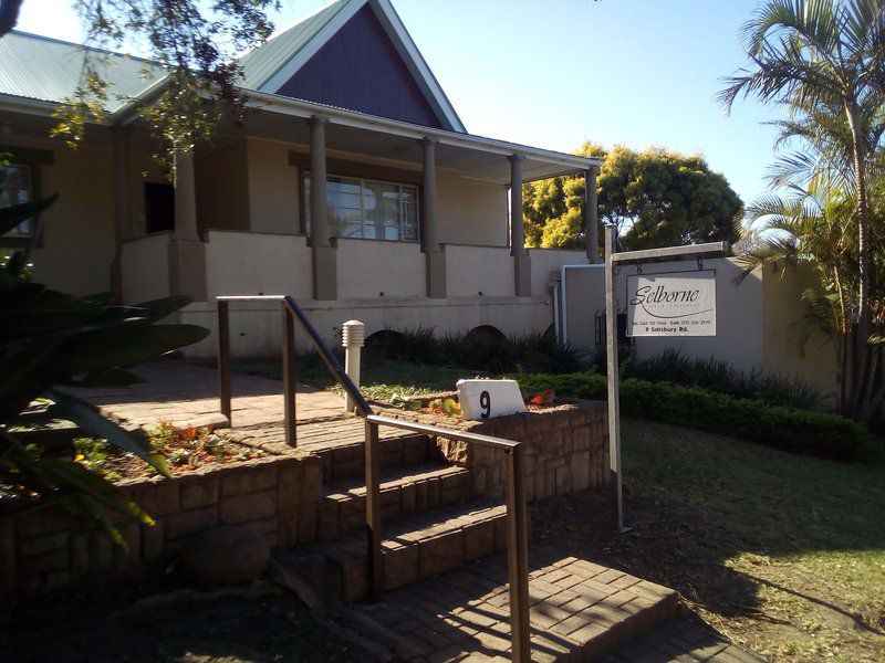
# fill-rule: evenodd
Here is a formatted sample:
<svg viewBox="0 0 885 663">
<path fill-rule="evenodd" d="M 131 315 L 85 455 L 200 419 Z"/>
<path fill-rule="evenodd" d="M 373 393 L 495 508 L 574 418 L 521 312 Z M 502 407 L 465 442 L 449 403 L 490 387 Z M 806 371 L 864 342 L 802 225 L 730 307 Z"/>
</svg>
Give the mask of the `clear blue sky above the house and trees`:
<svg viewBox="0 0 885 663">
<path fill-rule="evenodd" d="M 701 152 L 745 202 L 764 189 L 775 116 L 714 101 L 742 66 L 760 0 L 393 0 L 469 131 L 573 151 Z M 279 29 L 327 4 L 282 0 Z M 76 41 L 70 0 L 25 0 L 19 29 Z M 52 20 L 46 19 L 48 15 Z"/>
</svg>

